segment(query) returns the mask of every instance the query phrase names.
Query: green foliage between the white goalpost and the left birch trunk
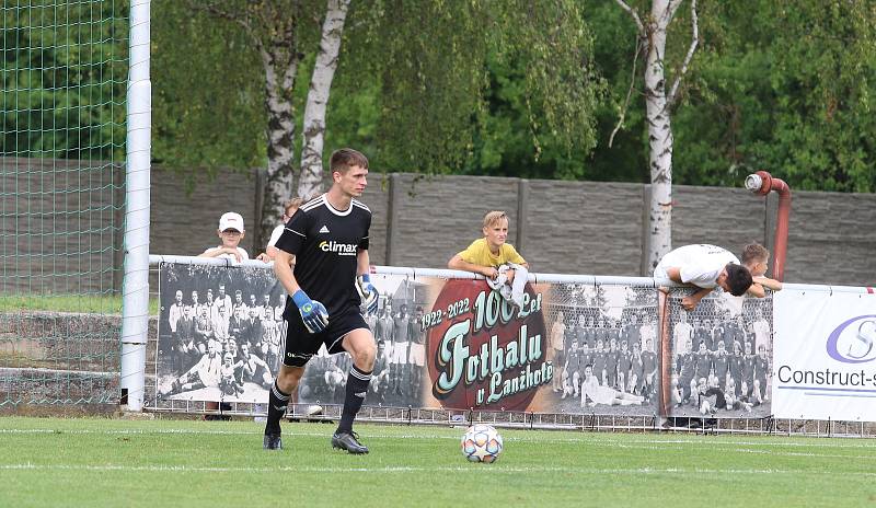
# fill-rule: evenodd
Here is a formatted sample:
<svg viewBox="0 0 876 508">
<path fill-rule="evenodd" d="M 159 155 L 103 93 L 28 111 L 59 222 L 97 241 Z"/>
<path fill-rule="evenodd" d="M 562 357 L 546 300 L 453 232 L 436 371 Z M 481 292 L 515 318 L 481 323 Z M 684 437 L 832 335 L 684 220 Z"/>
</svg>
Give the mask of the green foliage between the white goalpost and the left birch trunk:
<svg viewBox="0 0 876 508">
<path fill-rule="evenodd" d="M 151 51 L 153 160 L 177 169 L 263 165 L 264 73 L 245 34 L 194 15 L 186 2 L 154 0 Z"/>
</svg>

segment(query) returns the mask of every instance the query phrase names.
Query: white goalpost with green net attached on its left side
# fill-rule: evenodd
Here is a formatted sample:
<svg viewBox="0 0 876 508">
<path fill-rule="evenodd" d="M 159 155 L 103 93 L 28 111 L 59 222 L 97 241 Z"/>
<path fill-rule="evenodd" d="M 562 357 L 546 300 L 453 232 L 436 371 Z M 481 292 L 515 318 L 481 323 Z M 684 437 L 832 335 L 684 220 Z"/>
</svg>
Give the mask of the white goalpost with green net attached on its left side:
<svg viewBox="0 0 876 508">
<path fill-rule="evenodd" d="M 142 411 L 143 406 L 149 330 L 149 163 L 152 124 L 149 9 L 150 0 L 131 1 L 120 379 L 123 399 L 127 395 L 129 411 Z"/>
</svg>

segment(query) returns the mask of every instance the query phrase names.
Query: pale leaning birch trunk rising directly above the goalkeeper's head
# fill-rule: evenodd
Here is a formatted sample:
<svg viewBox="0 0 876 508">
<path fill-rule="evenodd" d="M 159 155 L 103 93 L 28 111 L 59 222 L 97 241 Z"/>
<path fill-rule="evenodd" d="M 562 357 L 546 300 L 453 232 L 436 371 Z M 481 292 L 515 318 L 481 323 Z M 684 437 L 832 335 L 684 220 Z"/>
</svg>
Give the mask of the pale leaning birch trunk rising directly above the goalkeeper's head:
<svg viewBox="0 0 876 508">
<path fill-rule="evenodd" d="M 310 197 L 322 189 L 322 151 L 325 137 L 325 107 L 337 69 L 341 36 L 350 0 L 327 0 L 322 25 L 320 53 L 313 66 L 308 102 L 304 107 L 303 142 L 301 143 L 301 176 L 298 196 Z"/>
</svg>

